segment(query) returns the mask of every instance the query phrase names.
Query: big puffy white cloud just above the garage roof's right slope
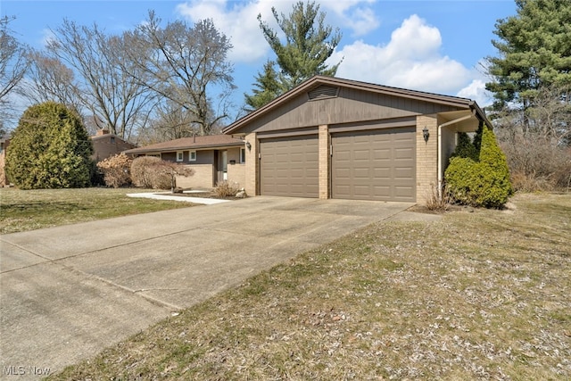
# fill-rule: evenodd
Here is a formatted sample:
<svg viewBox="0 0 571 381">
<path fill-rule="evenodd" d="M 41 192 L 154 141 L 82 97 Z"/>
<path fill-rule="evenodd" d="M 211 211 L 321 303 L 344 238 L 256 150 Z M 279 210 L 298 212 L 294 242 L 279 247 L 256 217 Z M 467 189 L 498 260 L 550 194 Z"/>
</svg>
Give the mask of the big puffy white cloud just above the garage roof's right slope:
<svg viewBox="0 0 571 381">
<path fill-rule="evenodd" d="M 372 46 L 361 40 L 343 46 L 331 62 L 343 63 L 337 76 L 393 87 L 451 94 L 468 83 L 470 70 L 440 54 L 440 31 L 416 14 L 395 29 L 391 41 Z"/>
</svg>

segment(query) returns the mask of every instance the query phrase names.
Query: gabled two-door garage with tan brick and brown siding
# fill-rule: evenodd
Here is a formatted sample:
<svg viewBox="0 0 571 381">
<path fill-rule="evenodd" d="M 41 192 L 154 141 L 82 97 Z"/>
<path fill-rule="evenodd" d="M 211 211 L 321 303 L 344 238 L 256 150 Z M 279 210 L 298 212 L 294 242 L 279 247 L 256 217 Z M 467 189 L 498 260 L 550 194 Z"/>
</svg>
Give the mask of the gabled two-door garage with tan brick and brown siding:
<svg viewBox="0 0 571 381">
<path fill-rule="evenodd" d="M 248 147 L 248 195 L 423 203 L 482 122 L 466 98 L 316 76 L 223 132 Z"/>
</svg>

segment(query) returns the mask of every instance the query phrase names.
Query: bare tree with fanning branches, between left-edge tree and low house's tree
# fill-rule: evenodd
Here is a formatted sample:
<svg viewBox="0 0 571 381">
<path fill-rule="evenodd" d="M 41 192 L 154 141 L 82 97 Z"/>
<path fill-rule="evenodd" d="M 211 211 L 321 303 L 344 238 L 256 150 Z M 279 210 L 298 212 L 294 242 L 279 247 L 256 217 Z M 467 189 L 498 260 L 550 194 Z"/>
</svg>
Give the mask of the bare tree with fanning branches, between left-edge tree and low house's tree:
<svg viewBox="0 0 571 381">
<path fill-rule="evenodd" d="M 78 26 L 68 20 L 54 36 L 47 48 L 81 76 L 81 103 L 112 133 L 128 140 L 149 119 L 155 94 L 143 85 L 145 72 L 127 61 L 123 37 L 107 36 L 96 24 Z"/>
</svg>

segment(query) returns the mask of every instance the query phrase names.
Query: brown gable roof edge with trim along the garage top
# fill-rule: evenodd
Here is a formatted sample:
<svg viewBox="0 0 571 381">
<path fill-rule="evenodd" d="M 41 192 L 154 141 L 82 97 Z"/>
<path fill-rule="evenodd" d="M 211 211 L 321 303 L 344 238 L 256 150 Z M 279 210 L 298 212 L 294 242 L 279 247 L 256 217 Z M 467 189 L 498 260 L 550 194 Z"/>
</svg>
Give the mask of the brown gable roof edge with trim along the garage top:
<svg viewBox="0 0 571 381">
<path fill-rule="evenodd" d="M 244 125 L 250 123 L 252 120 L 256 120 L 262 115 L 276 109 L 281 104 L 285 104 L 288 100 L 294 98 L 297 95 L 303 94 L 305 92 L 310 92 L 322 85 L 325 86 L 335 86 L 335 87 L 350 87 L 359 90 L 369 91 L 378 94 L 400 96 L 403 98 L 415 99 L 418 101 L 431 102 L 434 104 L 445 104 L 459 109 L 466 109 L 475 112 L 476 117 L 479 120 L 484 120 L 487 124 L 492 126 L 490 120 L 485 116 L 484 111 L 476 104 L 475 101 L 468 98 L 461 98 L 458 96 L 451 95 L 439 95 L 434 93 L 427 93 L 418 90 L 407 90 L 400 87 L 388 87 L 383 85 L 376 85 L 368 82 L 361 82 L 352 79 L 339 79 L 335 77 L 326 76 L 314 76 L 302 82 L 298 87 L 294 87 L 283 95 L 278 96 L 276 99 L 271 101 L 269 104 L 261 107 L 260 109 L 249 113 L 240 120 L 236 120 L 234 123 L 230 124 L 227 128 L 224 128 L 222 132 L 224 134 L 232 134 L 237 129 L 242 128 Z"/>
</svg>

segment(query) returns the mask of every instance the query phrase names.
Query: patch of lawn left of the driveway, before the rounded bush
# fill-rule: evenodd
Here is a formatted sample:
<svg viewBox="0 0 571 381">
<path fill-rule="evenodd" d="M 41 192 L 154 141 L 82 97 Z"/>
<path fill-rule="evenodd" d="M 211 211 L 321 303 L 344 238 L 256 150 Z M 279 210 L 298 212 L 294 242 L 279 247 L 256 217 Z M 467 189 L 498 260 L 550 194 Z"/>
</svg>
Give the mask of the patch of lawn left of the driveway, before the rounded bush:
<svg viewBox="0 0 571 381">
<path fill-rule="evenodd" d="M 137 192 L 145 190 L 93 187 L 24 191 L 0 188 L 0 234 L 194 205 L 127 196 Z"/>
</svg>

